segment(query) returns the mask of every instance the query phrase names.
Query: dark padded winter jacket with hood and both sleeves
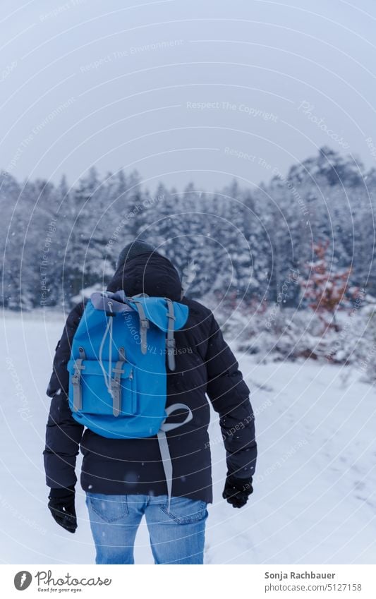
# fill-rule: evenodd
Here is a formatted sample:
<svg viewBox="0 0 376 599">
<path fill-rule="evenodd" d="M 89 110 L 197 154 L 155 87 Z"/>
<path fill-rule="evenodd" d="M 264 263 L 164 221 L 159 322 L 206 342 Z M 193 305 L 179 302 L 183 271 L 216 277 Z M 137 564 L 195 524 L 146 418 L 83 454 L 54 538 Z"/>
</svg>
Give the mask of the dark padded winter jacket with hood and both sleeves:
<svg viewBox="0 0 376 599">
<path fill-rule="evenodd" d="M 128 260 L 126 266 L 119 266 L 107 289 L 124 289 L 128 296 L 146 293 L 169 297 L 188 305 L 186 326 L 175 333 L 176 370 L 170 372 L 167 368 L 167 405 L 182 401 L 193 412 L 193 420 L 167 434 L 173 464 L 172 495 L 212 502 L 207 397 L 219 414 L 228 472 L 247 478 L 255 471 L 253 411 L 236 358 L 211 311 L 197 301 L 180 299 L 178 272 L 162 255 L 144 253 Z M 75 485 L 75 459 L 80 449 L 83 490 L 110 495 L 166 495 L 156 436 L 107 439 L 84 430 L 73 419 L 67 399 L 66 365 L 84 309 L 84 303 L 79 303 L 68 315 L 47 389 L 52 398 L 44 449 L 47 485 L 51 488 Z M 171 416 L 169 422 L 183 420 L 183 416 Z"/>
</svg>

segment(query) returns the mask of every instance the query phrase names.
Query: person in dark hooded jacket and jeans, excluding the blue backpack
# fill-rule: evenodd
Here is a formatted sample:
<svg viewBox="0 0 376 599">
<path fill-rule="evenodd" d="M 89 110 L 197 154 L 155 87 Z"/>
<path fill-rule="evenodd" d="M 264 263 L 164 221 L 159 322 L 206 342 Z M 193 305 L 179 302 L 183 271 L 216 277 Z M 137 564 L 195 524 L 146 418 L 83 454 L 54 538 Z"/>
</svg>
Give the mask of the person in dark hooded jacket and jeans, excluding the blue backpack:
<svg viewBox="0 0 376 599">
<path fill-rule="evenodd" d="M 109 439 L 83 430 L 68 406 L 68 371 L 75 330 L 85 310 L 79 303 L 68 315 L 56 347 L 47 389 L 52 398 L 47 423 L 44 465 L 49 509 L 71 533 L 75 516 L 75 459 L 83 453 L 81 486 L 86 492 L 97 564 L 133 564 L 135 534 L 145 514 L 156 564 L 202 564 L 207 504 L 212 502 L 209 397 L 219 414 L 227 473 L 223 497 L 242 507 L 253 492 L 257 448 L 249 389 L 234 354 L 211 311 L 183 297 L 181 280 L 171 262 L 143 241 L 121 252 L 107 291 L 127 296 L 147 294 L 185 303 L 188 321 L 176 331 L 176 369 L 167 369 L 167 403 L 183 401 L 190 422 L 168 433 L 173 464 L 172 497 L 167 489 L 157 436 Z M 181 418 L 180 418 L 181 420 Z M 169 422 L 179 421 L 171 415 Z"/>
</svg>

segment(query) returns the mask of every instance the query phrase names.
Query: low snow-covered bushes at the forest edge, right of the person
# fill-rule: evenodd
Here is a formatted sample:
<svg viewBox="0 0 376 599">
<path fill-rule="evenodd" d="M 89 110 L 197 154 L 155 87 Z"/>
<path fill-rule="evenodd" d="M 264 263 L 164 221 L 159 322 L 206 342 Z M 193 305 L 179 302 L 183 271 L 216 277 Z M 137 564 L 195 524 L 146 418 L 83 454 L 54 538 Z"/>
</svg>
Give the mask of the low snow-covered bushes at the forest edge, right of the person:
<svg viewBox="0 0 376 599">
<path fill-rule="evenodd" d="M 238 305 L 214 309 L 226 340 L 234 349 L 255 356 L 257 362 L 313 359 L 351 365 L 363 380 L 376 380 L 376 306 L 339 310 L 335 327 L 315 310 L 262 309 Z"/>
</svg>

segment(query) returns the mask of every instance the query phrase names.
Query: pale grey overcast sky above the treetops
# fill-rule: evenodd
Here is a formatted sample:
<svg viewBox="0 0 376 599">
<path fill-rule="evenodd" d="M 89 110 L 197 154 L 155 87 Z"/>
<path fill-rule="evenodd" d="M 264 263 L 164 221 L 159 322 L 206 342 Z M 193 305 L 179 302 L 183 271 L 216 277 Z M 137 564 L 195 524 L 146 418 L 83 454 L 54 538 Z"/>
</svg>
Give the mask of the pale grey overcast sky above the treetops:
<svg viewBox="0 0 376 599">
<path fill-rule="evenodd" d="M 376 166 L 374 0 L 2 0 L 0 168 L 212 190 Z M 208 104 L 210 103 L 210 104 Z"/>
</svg>

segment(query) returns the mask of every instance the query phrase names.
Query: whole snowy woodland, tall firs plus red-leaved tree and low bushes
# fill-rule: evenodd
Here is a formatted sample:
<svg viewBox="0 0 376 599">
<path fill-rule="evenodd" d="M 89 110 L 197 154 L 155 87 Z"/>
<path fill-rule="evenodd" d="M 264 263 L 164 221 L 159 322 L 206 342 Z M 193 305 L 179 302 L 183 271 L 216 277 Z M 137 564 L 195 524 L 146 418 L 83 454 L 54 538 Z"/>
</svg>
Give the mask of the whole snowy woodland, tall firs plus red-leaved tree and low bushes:
<svg viewBox="0 0 376 599">
<path fill-rule="evenodd" d="M 322 147 L 255 188 L 151 193 L 135 171 L 93 167 L 71 187 L 3 172 L 0 190 L 4 308 L 66 312 L 140 237 L 258 361 L 323 358 L 374 380 L 376 169 Z"/>
</svg>

